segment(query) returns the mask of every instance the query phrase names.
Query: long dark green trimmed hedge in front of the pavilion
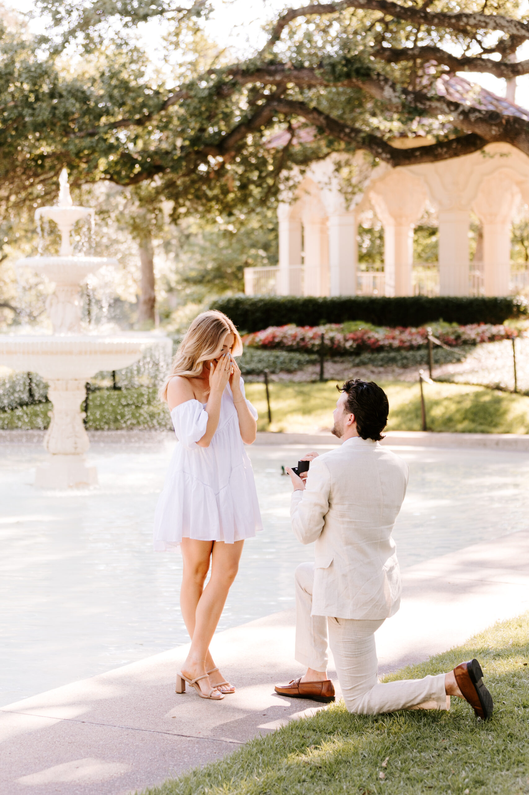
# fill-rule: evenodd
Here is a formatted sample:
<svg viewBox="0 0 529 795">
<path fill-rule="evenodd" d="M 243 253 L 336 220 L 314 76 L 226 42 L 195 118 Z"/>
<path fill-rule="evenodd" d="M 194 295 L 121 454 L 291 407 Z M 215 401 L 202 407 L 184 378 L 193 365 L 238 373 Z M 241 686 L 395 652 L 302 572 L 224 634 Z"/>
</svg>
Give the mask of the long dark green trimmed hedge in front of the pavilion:
<svg viewBox="0 0 529 795">
<path fill-rule="evenodd" d="M 527 301 L 506 298 L 426 296 L 334 297 L 232 296 L 218 298 L 211 309 L 224 312 L 241 331 L 259 332 L 268 326 L 319 326 L 364 320 L 375 326 L 422 326 L 436 320 L 458 323 L 504 323 L 527 315 Z"/>
</svg>

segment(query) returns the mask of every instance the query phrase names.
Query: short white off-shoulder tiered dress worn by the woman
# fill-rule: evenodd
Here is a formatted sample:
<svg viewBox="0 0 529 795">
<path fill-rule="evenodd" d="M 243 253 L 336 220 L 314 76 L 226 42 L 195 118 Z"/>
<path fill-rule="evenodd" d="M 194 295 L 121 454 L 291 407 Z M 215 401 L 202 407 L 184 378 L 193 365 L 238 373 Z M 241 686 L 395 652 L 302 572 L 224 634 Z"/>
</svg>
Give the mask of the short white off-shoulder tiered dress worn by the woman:
<svg viewBox="0 0 529 795">
<path fill-rule="evenodd" d="M 241 390 L 245 395 L 241 378 Z M 257 411 L 246 401 L 253 417 Z M 205 403 L 189 400 L 171 412 L 178 439 L 154 518 L 154 549 L 176 549 L 182 538 L 233 544 L 262 530 L 252 464 L 241 439 L 230 385 L 222 393 L 217 430 L 207 448 Z"/>
</svg>

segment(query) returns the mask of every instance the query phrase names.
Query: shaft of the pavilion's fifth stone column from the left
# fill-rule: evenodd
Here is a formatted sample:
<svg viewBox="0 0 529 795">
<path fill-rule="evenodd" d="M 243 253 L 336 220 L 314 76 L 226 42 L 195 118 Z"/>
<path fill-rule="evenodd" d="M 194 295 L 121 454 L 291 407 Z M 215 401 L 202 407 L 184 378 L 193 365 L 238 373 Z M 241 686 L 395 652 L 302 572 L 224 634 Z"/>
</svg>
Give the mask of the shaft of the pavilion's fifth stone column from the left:
<svg viewBox="0 0 529 795">
<path fill-rule="evenodd" d="M 439 210 L 439 294 L 469 294 L 468 210 Z"/>
</svg>

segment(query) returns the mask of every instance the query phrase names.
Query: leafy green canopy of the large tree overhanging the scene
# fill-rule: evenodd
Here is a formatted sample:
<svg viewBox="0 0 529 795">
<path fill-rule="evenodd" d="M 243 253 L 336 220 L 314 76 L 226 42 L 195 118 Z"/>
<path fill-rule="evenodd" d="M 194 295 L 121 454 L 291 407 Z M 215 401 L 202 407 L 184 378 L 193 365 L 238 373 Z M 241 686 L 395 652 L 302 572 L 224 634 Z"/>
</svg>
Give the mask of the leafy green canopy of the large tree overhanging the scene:
<svg viewBox="0 0 529 795">
<path fill-rule="evenodd" d="M 294 15 L 268 48 L 235 64 L 206 40 L 207 0 L 37 0 L 41 28 L 50 25 L 34 36 L 10 14 L 0 33 L 4 211 L 43 203 L 51 177 L 67 165 L 74 184 L 149 182 L 160 201 L 173 203 L 173 219 L 180 211 L 231 219 L 276 206 L 280 191 L 328 153 L 347 159 L 363 149 L 370 162 L 391 160 L 388 142 L 396 136 L 445 142 L 468 132 L 452 107 L 443 114 L 440 100 L 428 105 L 435 81 L 451 68 L 442 49 L 426 60 L 406 53 L 446 45 L 451 58 L 454 50 L 480 58 L 481 25 L 454 28 L 446 3 L 419 23 L 406 18 L 412 6 L 395 16 L 384 6 L 383 17 L 377 8 L 346 6 Z M 458 8 L 475 10 L 471 0 Z M 488 16 L 496 31 L 504 30 L 498 14 L 512 24 L 523 16 L 507 0 L 494 8 Z M 151 33 L 158 25 L 163 70 L 141 40 L 145 25 Z M 493 37 L 481 59 L 492 72 L 491 52 L 514 52 L 508 33 Z M 313 110 L 324 114 L 320 121 Z M 307 126 L 311 135 L 293 138 Z M 270 145 L 278 131 L 288 142 Z"/>
</svg>

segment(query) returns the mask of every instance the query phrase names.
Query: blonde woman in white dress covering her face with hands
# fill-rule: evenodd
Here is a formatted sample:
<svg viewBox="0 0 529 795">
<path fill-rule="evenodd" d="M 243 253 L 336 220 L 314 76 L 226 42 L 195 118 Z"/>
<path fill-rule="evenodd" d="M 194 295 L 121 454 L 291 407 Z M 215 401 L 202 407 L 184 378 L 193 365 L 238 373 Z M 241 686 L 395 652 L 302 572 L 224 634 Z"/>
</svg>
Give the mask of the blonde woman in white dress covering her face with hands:
<svg viewBox="0 0 529 795">
<path fill-rule="evenodd" d="M 191 323 L 160 391 L 178 444 L 156 507 L 154 549 L 180 546 L 180 607 L 191 636 L 176 692 L 184 692 L 187 682 L 200 696 L 214 700 L 235 688 L 215 666 L 210 641 L 244 540 L 262 529 L 244 448 L 255 441 L 257 411 L 245 399 L 234 359 L 241 353 L 241 337 L 231 320 L 222 312 L 203 312 Z"/>
</svg>

